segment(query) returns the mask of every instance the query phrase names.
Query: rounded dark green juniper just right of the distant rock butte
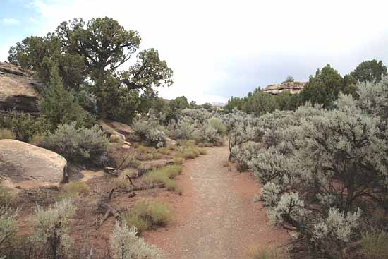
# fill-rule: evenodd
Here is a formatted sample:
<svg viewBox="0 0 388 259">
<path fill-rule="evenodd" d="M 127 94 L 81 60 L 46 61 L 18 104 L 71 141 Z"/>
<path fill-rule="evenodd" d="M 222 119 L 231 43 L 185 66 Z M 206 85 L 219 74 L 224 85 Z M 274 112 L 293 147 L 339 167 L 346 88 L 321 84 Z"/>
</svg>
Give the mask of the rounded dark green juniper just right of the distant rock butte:
<svg viewBox="0 0 388 259">
<path fill-rule="evenodd" d="M 318 69 L 315 76 L 310 76 L 305 88 L 301 91 L 301 102 L 308 100 L 312 104 L 323 104 L 324 107 L 332 105 L 337 100 L 339 92 L 352 94 L 356 90 L 351 80 L 344 80 L 341 75 L 330 65 Z"/>
</svg>

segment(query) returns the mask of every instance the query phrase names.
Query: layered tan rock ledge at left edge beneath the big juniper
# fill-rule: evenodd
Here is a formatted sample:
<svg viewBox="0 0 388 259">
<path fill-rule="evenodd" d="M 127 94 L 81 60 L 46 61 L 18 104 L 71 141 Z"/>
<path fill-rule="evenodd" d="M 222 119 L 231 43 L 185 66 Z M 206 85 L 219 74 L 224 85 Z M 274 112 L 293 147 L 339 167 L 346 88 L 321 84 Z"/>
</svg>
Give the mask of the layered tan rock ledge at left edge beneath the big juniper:
<svg viewBox="0 0 388 259">
<path fill-rule="evenodd" d="M 31 71 L 19 66 L 0 62 L 0 110 L 16 109 L 23 112 L 38 112 L 37 88 L 42 85 L 32 78 Z"/>
</svg>

